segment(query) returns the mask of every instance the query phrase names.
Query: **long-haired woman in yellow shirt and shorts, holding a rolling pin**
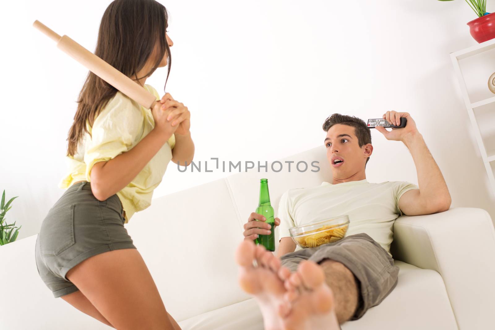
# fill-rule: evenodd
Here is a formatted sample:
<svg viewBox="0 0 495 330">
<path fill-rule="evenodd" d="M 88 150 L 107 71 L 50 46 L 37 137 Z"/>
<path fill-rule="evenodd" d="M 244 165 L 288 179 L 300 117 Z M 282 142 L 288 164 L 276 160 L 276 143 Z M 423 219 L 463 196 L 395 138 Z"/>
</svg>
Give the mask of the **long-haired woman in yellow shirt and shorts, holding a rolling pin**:
<svg viewBox="0 0 495 330">
<path fill-rule="evenodd" d="M 167 27 L 155 0 L 115 0 L 95 54 L 160 100 L 145 81 L 157 67 L 170 72 Z M 187 107 L 170 94 L 145 109 L 89 73 L 69 131 L 69 174 L 59 185 L 68 189 L 36 241 L 38 271 L 54 297 L 119 330 L 180 330 L 124 223 L 150 205 L 170 160 L 191 163 L 189 128 Z"/>
</svg>

